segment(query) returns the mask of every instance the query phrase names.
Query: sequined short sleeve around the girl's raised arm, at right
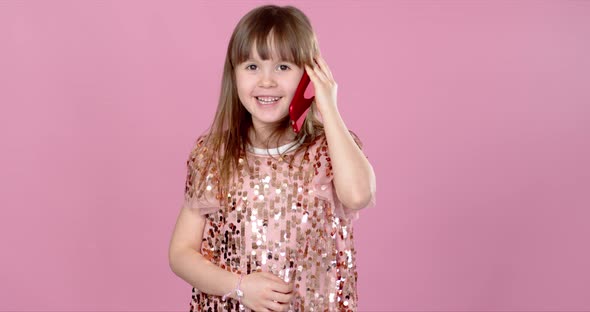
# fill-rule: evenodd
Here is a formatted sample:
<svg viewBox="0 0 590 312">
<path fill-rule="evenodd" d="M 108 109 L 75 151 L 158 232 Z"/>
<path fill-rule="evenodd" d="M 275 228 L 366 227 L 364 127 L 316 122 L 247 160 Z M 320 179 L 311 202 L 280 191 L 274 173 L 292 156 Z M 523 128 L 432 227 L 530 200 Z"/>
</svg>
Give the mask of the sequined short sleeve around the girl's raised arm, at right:
<svg viewBox="0 0 590 312">
<path fill-rule="evenodd" d="M 355 142 L 357 145 L 359 145 L 359 147 L 361 147 L 361 144 L 356 137 Z M 376 205 L 375 191 L 371 193 L 371 200 L 369 203 L 365 207 L 358 210 L 348 208 L 340 202 L 336 194 L 336 188 L 334 187 L 334 174 L 332 172 L 332 163 L 325 137 L 321 139 L 315 157 L 316 159 L 314 167 L 316 170 L 316 175 L 312 180 L 315 195 L 320 199 L 332 202 L 334 206 L 334 214 L 337 217 L 354 221 L 359 218 L 360 209 L 369 208 Z"/>
</svg>

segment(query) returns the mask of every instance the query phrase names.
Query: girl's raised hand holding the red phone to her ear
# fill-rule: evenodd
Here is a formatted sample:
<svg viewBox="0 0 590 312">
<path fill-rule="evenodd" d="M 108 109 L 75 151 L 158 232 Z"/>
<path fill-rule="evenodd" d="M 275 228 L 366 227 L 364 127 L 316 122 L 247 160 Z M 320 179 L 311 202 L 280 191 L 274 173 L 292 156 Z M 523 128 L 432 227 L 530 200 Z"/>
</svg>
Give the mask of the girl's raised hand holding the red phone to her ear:
<svg viewBox="0 0 590 312">
<path fill-rule="evenodd" d="M 332 72 L 321 54 L 316 55 L 314 60 L 317 64 L 314 64 L 313 68 L 310 68 L 306 64 L 305 71 L 313 83 L 316 108 L 323 116 L 323 112 L 325 112 L 326 109 L 337 108 L 336 96 L 338 93 L 338 84 L 334 81 Z"/>
</svg>

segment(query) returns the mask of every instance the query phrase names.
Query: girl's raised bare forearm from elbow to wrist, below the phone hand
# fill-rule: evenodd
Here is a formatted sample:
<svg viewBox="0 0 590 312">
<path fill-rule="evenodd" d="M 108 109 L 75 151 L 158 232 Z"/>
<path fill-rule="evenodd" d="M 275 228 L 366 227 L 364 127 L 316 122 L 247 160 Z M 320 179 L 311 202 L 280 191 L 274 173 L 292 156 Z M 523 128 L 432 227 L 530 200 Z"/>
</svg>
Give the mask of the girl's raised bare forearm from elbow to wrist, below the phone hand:
<svg viewBox="0 0 590 312">
<path fill-rule="evenodd" d="M 338 109 L 329 107 L 321 114 L 338 199 L 351 209 L 365 207 L 376 188 L 373 167 L 354 142 Z"/>
</svg>

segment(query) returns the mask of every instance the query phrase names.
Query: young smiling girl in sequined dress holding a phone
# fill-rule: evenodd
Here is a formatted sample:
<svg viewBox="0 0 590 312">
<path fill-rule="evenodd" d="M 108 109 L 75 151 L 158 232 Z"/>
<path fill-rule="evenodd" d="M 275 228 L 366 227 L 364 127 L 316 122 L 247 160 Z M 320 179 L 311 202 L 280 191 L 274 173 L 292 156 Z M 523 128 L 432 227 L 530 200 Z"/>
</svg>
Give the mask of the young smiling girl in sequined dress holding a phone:
<svg viewBox="0 0 590 312">
<path fill-rule="evenodd" d="M 295 133 L 289 104 L 304 71 L 315 99 Z M 239 21 L 170 242 L 190 311 L 356 311 L 352 222 L 375 205 L 376 183 L 336 88 L 300 10 L 266 5 Z"/>
</svg>

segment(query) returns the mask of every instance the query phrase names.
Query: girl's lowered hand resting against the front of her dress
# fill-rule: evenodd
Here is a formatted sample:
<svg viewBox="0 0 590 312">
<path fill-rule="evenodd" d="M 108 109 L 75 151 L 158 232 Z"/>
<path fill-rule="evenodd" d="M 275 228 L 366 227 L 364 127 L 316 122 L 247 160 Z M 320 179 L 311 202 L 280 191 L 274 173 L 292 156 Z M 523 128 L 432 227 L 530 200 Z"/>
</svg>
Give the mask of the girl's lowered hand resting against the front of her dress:
<svg viewBox="0 0 590 312">
<path fill-rule="evenodd" d="M 254 272 L 242 279 L 242 304 L 254 311 L 289 311 L 294 282 L 287 283 L 270 272 Z"/>
</svg>

